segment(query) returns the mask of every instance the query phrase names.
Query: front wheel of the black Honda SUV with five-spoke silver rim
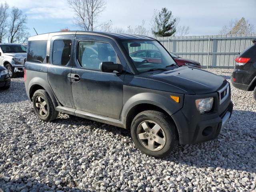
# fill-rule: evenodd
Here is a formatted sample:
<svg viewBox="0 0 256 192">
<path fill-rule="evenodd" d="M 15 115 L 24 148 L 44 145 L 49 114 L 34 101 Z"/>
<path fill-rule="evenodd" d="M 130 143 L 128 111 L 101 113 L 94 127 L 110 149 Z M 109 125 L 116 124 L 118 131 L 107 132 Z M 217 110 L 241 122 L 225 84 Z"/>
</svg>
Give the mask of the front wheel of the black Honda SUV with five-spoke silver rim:
<svg viewBox="0 0 256 192">
<path fill-rule="evenodd" d="M 157 132 L 155 133 L 154 130 Z M 156 158 L 167 156 L 179 143 L 174 123 L 169 116 L 158 111 L 148 110 L 136 115 L 132 120 L 131 135 L 134 144 L 141 152 Z"/>
</svg>

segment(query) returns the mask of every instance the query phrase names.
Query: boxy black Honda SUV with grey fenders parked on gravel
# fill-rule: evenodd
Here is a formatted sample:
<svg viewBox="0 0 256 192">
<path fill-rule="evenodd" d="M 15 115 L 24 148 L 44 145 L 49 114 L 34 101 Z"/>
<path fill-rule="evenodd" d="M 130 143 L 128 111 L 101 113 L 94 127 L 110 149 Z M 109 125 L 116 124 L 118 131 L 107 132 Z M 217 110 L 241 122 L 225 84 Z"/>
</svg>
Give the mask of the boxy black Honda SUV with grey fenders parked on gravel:
<svg viewBox="0 0 256 192">
<path fill-rule="evenodd" d="M 161 62 L 130 54 L 156 50 Z M 25 86 L 36 115 L 58 112 L 130 129 L 144 153 L 216 138 L 232 113 L 230 84 L 179 67 L 157 40 L 101 32 L 55 32 L 28 39 Z"/>
</svg>

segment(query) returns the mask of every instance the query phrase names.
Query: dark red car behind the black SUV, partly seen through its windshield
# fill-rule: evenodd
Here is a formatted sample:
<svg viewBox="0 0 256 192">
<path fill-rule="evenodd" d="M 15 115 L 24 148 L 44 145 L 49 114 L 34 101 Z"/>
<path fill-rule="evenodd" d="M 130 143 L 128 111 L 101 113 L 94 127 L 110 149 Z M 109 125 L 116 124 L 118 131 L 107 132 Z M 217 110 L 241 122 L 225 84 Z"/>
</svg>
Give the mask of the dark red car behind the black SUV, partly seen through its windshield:
<svg viewBox="0 0 256 192">
<path fill-rule="evenodd" d="M 174 53 L 171 53 L 171 52 L 170 52 L 170 54 L 179 66 L 185 65 L 185 66 L 201 68 L 200 63 L 197 62 L 197 61 L 190 60 L 190 59 L 183 59 L 183 58 L 179 57 L 178 55 L 176 55 Z M 132 58 L 142 58 L 142 59 L 147 60 L 148 62 L 151 62 L 151 63 L 161 63 L 161 54 L 157 50 L 139 50 L 139 51 L 135 51 L 135 52 L 132 52 L 130 54 L 130 57 L 132 57 Z"/>
</svg>

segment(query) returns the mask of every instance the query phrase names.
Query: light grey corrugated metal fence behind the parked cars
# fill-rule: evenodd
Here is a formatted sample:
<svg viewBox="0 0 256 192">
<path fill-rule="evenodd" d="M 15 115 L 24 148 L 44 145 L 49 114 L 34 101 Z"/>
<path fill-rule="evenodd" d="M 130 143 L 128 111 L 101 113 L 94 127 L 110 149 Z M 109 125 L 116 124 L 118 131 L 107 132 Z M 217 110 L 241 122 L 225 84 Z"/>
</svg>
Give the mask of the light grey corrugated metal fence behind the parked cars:
<svg viewBox="0 0 256 192">
<path fill-rule="evenodd" d="M 202 66 L 234 67 L 234 58 L 252 44 L 256 34 L 181 36 L 157 38 L 164 47 L 182 58 Z"/>
</svg>

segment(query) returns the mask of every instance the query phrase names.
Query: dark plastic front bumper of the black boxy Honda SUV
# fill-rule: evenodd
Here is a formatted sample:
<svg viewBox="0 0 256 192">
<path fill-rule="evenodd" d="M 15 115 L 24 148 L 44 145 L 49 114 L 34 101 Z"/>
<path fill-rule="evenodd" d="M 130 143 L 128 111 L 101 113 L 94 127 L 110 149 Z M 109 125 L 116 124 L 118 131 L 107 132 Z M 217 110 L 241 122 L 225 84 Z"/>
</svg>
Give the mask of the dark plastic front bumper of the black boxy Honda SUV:
<svg viewBox="0 0 256 192">
<path fill-rule="evenodd" d="M 230 86 L 229 86 L 230 89 Z M 213 97 L 212 111 L 200 114 L 195 107 L 198 98 Z M 184 107 L 172 115 L 178 129 L 180 144 L 196 144 L 213 140 L 227 124 L 233 110 L 231 94 L 221 104 L 218 93 L 185 95 Z"/>
</svg>

